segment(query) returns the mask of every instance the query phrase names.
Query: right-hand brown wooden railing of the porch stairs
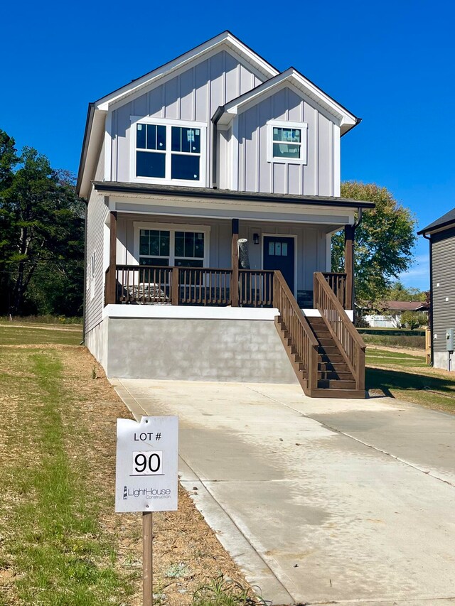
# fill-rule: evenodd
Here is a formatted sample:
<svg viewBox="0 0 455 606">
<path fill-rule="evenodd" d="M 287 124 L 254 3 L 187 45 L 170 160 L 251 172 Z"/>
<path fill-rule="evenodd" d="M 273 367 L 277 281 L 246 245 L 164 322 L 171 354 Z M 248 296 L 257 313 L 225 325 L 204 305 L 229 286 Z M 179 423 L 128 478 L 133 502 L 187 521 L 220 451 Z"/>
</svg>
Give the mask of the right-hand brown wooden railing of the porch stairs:
<svg viewBox="0 0 455 606">
<path fill-rule="evenodd" d="M 326 320 L 328 330 L 353 373 L 355 389 L 364 391 L 366 345 L 321 271 L 314 274 L 314 307 Z"/>
</svg>

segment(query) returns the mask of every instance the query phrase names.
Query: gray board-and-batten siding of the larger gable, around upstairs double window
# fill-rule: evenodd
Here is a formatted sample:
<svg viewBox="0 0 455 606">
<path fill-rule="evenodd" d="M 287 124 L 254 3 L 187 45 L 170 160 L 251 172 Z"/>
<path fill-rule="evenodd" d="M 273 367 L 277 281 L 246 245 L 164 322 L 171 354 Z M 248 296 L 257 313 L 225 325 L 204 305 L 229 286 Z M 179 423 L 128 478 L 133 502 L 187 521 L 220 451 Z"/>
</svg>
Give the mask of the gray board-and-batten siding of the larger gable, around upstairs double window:
<svg viewBox="0 0 455 606">
<path fill-rule="evenodd" d="M 215 110 L 262 80 L 225 50 L 188 67 L 112 112 L 112 180 L 129 181 L 131 116 L 153 116 L 205 122 L 207 129 L 207 186 L 210 184 L 211 118 Z"/>
</svg>

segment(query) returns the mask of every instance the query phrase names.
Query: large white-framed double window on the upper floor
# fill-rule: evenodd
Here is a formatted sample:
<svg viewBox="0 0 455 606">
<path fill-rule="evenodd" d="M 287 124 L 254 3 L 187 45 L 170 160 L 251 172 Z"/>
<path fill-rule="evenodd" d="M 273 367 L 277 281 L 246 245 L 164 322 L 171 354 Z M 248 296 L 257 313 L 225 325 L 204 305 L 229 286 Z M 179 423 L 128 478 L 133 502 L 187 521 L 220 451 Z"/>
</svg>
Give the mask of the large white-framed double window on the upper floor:
<svg viewBox="0 0 455 606">
<path fill-rule="evenodd" d="M 205 123 L 132 117 L 131 134 L 132 181 L 205 187 Z"/>
</svg>

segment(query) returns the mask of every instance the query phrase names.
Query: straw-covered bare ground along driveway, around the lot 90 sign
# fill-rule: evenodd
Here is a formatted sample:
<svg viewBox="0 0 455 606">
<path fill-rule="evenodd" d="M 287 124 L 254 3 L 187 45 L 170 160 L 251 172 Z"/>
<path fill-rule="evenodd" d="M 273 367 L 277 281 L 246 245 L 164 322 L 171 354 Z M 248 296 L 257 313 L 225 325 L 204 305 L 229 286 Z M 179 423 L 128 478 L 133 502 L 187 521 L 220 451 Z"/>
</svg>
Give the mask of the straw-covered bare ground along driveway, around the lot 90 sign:
<svg viewBox="0 0 455 606">
<path fill-rule="evenodd" d="M 83 440 L 68 438 L 68 453 L 73 459 L 80 457 L 89 463 L 87 468 L 91 472 L 85 482 L 94 498 L 100 499 L 102 528 L 112 537 L 117 548 L 115 566 L 133 579 L 136 588 L 128 606 L 139 606 L 142 604 L 141 514 L 114 513 L 116 421 L 119 417 L 132 418 L 132 415 L 107 381 L 102 367 L 85 347 L 32 347 L 52 349 L 63 362 L 63 388 L 68 397 L 66 405 L 74 407 L 72 410 L 77 413 L 77 422 L 86 436 Z M 0 394 L 0 403 L 4 397 L 6 394 Z M 244 587 L 248 586 L 181 487 L 177 512 L 154 513 L 153 541 L 155 605 L 190 605 L 195 590 L 210 583 L 220 573 Z"/>
</svg>

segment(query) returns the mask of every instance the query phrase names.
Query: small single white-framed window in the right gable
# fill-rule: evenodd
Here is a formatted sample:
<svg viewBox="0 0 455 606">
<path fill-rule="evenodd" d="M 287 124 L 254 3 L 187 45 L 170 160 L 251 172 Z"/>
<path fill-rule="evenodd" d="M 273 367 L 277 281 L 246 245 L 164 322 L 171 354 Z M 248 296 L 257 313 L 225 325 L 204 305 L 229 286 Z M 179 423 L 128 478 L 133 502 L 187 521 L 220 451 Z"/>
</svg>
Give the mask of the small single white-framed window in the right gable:
<svg viewBox="0 0 455 606">
<path fill-rule="evenodd" d="M 267 122 L 267 161 L 306 164 L 306 122 L 270 120 Z"/>
</svg>

